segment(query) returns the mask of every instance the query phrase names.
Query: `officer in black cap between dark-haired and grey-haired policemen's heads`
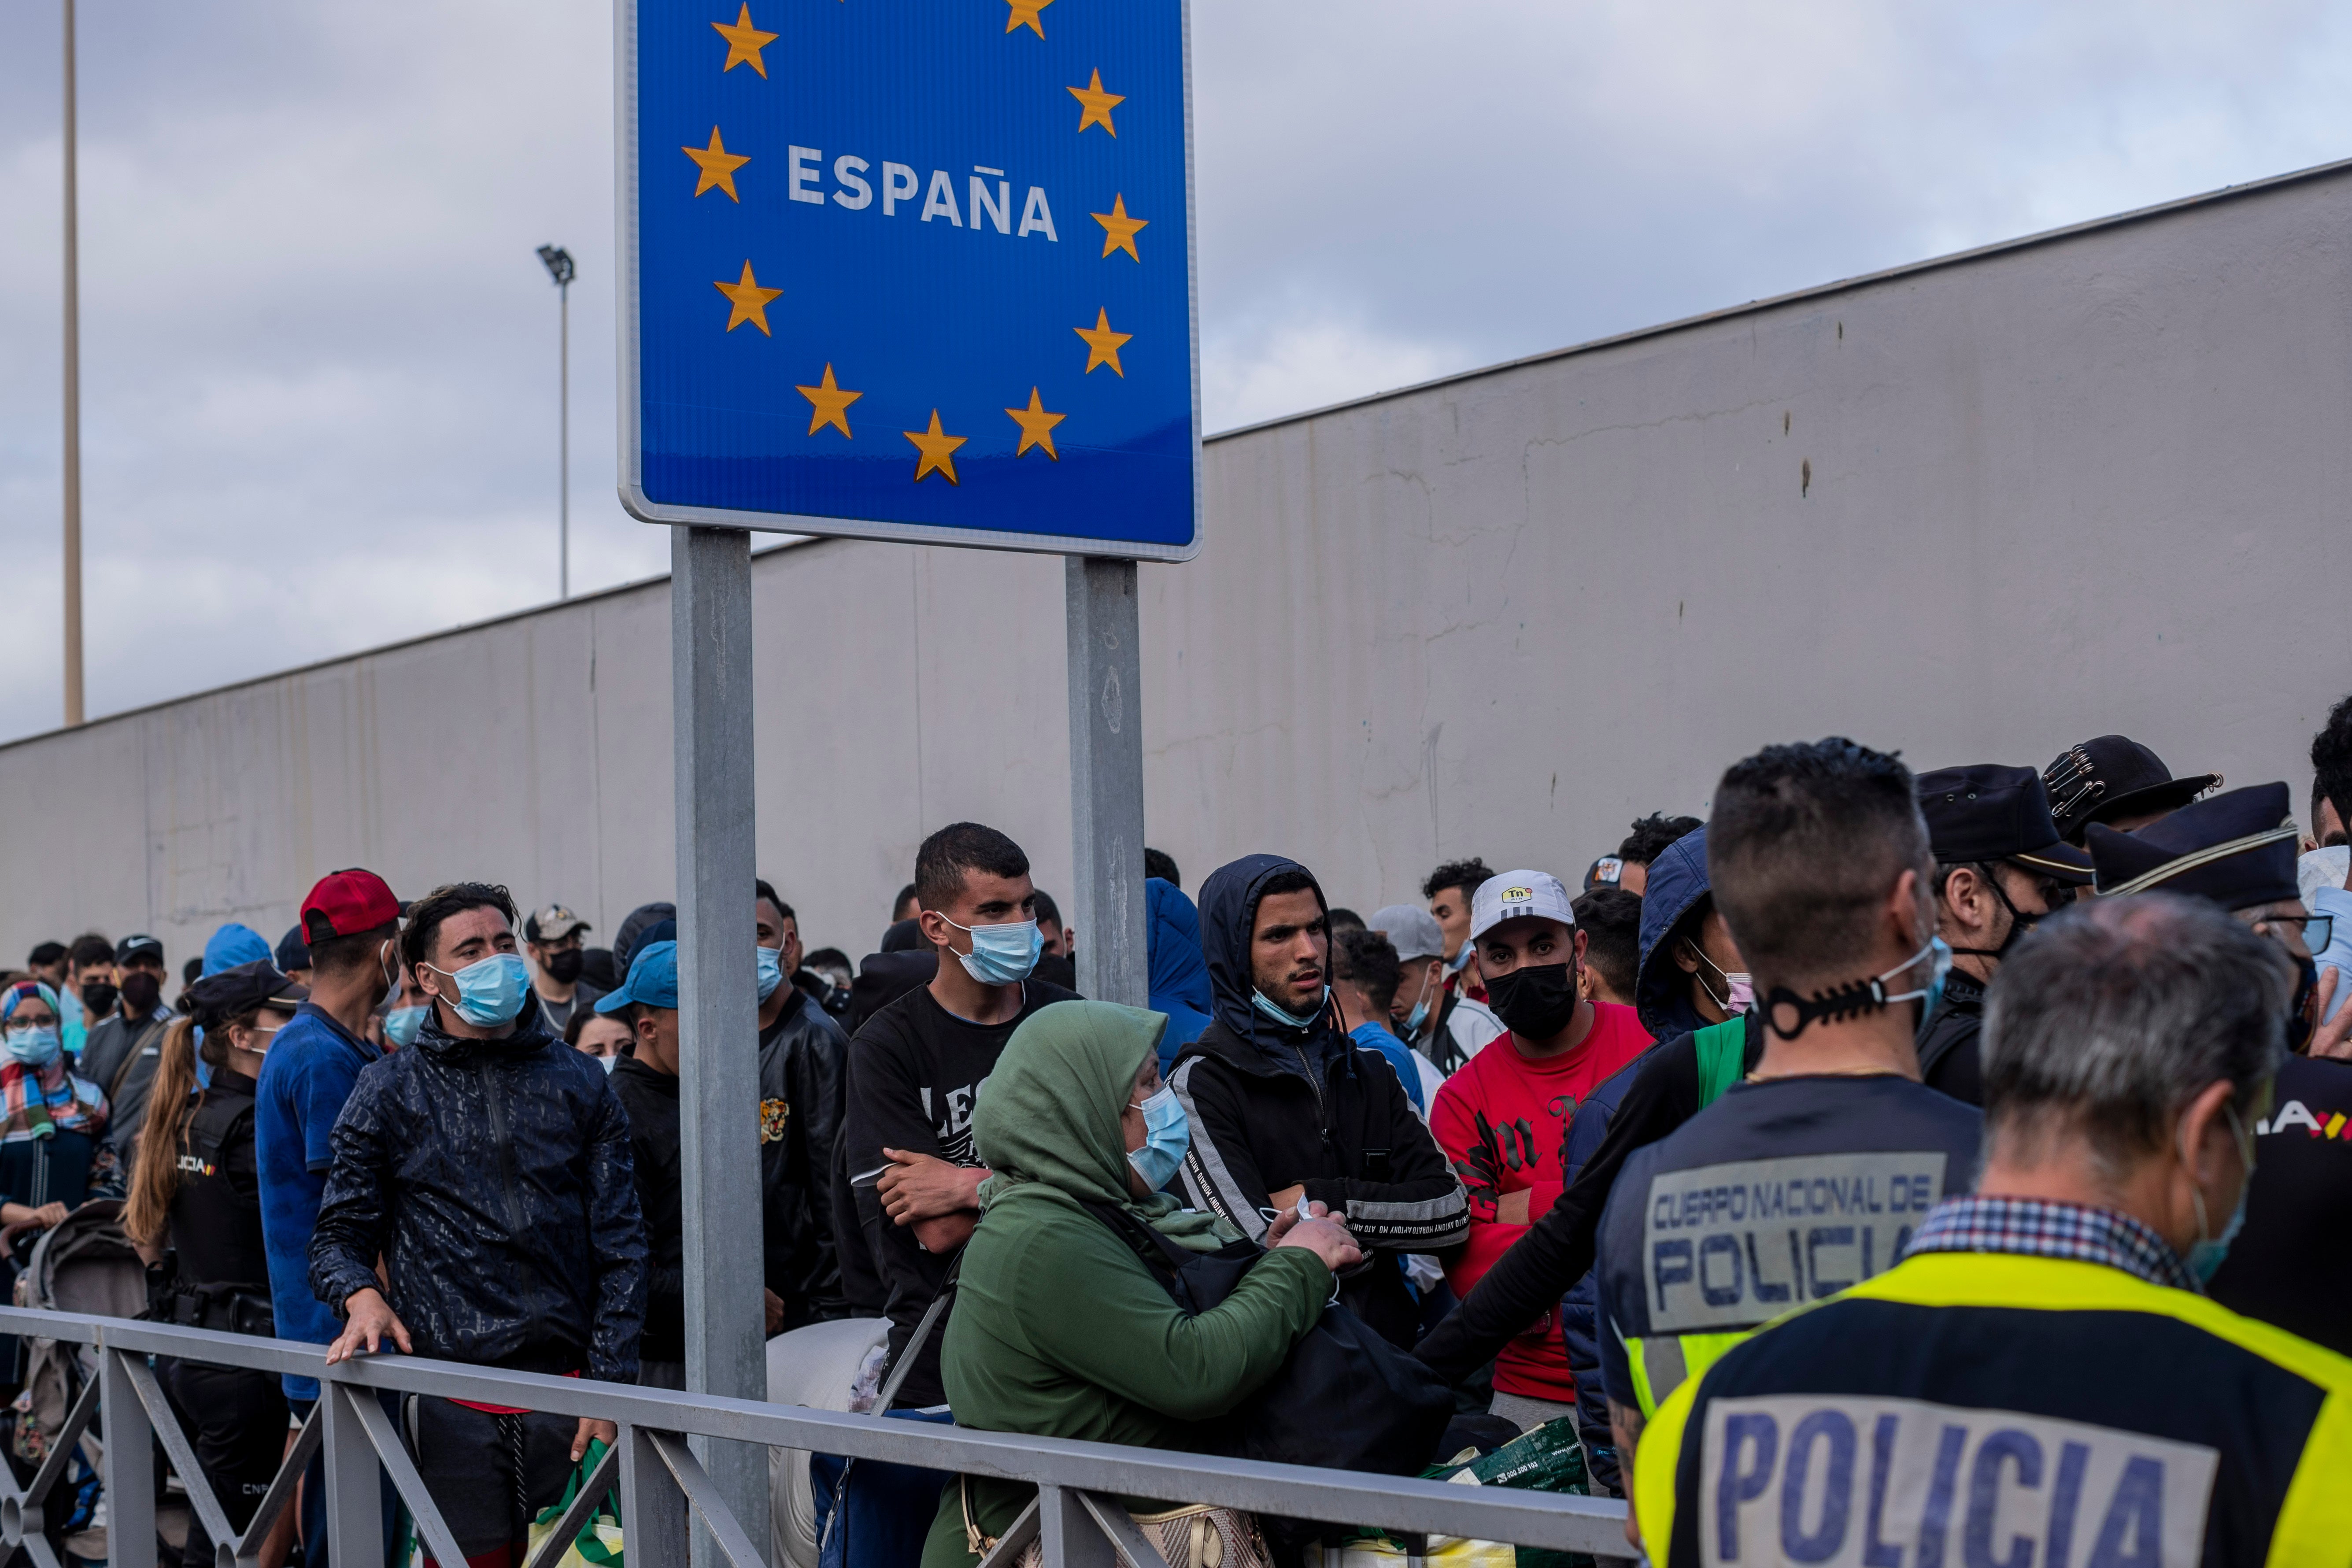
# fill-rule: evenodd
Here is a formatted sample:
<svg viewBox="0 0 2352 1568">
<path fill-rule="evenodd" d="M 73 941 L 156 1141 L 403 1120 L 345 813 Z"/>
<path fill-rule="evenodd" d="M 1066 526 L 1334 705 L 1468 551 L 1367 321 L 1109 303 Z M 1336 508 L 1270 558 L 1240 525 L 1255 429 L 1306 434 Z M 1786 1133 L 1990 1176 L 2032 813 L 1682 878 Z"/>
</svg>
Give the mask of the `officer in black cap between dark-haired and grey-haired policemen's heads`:
<svg viewBox="0 0 2352 1568">
<path fill-rule="evenodd" d="M 1936 856 L 1936 936 L 1952 950 L 1943 1006 L 1919 1027 L 1919 1077 L 1983 1105 L 1976 1037 L 1985 985 L 2037 919 L 2091 882 L 2091 856 L 2058 837 L 2032 769 L 1980 762 L 1922 773 L 1919 813 Z"/>
</svg>

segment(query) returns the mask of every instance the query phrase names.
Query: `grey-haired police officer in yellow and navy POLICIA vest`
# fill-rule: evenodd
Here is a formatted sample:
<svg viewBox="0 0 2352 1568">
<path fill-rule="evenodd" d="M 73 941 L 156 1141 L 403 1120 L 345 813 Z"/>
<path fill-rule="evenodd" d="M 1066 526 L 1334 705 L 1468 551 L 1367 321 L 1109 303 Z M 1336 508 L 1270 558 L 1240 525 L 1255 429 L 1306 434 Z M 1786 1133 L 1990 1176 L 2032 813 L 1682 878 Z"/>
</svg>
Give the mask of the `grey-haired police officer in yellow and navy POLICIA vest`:
<svg viewBox="0 0 2352 1568">
<path fill-rule="evenodd" d="M 1976 1194 L 1665 1401 L 1635 1474 L 1651 1561 L 2345 1561 L 2352 1361 L 2197 1291 L 2291 994 L 2211 903 L 2044 922 L 1992 987 Z"/>
</svg>

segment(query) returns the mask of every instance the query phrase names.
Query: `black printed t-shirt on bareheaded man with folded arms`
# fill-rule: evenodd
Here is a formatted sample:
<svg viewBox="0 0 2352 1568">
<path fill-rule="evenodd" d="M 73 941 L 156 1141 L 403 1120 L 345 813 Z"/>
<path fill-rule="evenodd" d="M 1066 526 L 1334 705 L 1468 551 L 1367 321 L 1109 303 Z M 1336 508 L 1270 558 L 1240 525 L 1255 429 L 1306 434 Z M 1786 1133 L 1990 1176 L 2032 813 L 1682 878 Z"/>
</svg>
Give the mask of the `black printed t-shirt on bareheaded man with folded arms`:
<svg viewBox="0 0 2352 1568">
<path fill-rule="evenodd" d="M 950 1258 L 927 1253 L 915 1232 L 882 1213 L 875 1178 L 887 1164 L 882 1150 L 936 1154 L 957 1166 L 981 1164 L 971 1152 L 971 1107 L 995 1072 L 1004 1041 L 1030 1013 L 1075 992 L 1044 980 L 1025 980 L 1021 1013 L 1007 1023 L 971 1023 L 938 1006 L 929 985 L 917 985 L 866 1020 L 849 1041 L 849 1182 L 875 1267 L 889 1293 L 889 1352 L 906 1349 L 924 1307 L 948 1279 Z M 847 1246 L 849 1239 L 844 1237 Z M 938 1328 L 924 1342 L 898 1389 L 901 1408 L 946 1401 L 938 1382 Z"/>
</svg>

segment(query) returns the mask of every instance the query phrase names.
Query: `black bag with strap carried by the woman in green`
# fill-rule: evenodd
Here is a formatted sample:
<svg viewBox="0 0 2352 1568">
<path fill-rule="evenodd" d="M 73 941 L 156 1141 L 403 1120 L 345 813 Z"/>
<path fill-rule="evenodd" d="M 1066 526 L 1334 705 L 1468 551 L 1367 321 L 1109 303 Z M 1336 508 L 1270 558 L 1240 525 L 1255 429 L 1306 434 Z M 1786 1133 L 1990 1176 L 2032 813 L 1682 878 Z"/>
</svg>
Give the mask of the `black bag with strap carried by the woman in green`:
<svg viewBox="0 0 2352 1568">
<path fill-rule="evenodd" d="M 1127 1239 L 1190 1316 L 1216 1307 L 1265 1255 L 1256 1241 L 1216 1253 L 1176 1246 L 1110 1204 L 1087 1211 Z M 1418 1476 L 1454 1420 L 1454 1392 L 1345 1307 L 1324 1307 L 1265 1387 L 1216 1422 L 1211 1453 Z"/>
</svg>

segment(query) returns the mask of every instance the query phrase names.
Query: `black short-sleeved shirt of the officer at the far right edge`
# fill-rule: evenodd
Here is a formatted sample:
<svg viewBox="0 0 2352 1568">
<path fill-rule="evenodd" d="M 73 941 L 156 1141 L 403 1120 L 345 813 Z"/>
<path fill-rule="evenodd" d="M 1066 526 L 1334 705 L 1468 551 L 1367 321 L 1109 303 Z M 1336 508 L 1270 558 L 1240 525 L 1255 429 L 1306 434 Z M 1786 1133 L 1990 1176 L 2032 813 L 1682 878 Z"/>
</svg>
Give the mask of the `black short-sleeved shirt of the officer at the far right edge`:
<svg viewBox="0 0 2352 1568">
<path fill-rule="evenodd" d="M 2286 1058 L 2270 1119 L 2249 1131 L 2246 1225 L 2206 1291 L 2352 1356 L 2352 1063 Z"/>
</svg>

